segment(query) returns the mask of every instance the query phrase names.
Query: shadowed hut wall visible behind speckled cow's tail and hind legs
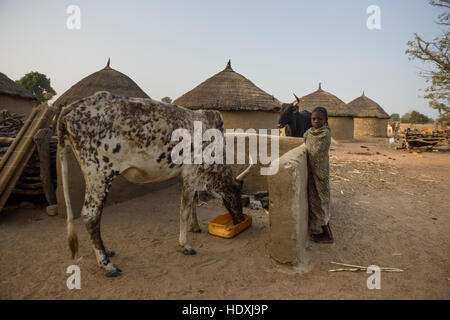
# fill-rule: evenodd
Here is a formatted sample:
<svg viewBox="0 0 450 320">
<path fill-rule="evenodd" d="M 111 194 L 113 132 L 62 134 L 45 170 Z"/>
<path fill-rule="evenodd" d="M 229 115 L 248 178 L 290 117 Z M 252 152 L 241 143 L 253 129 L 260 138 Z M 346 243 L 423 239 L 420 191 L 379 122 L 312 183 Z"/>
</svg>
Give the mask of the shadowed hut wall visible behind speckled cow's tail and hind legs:
<svg viewBox="0 0 450 320">
<path fill-rule="evenodd" d="M 72 150 L 70 150 L 69 152 L 67 162 L 69 171 L 68 174 L 69 194 L 71 199 L 72 212 L 74 217 L 77 218 L 80 217 L 81 215 L 81 209 L 84 203 L 85 182 L 78 161 L 76 160 Z M 62 188 L 59 147 L 57 153 L 56 168 L 58 176 L 58 186 L 56 190 L 56 198 L 58 202 L 58 215 L 61 217 L 66 217 L 67 213 L 66 213 L 66 203 L 64 200 L 64 190 Z M 111 189 L 109 190 L 105 206 L 121 203 L 136 197 L 143 196 L 152 191 L 168 187 L 172 184 L 177 183 L 178 181 L 179 179 L 175 178 L 162 182 L 135 184 L 132 182 L 128 182 L 127 180 L 125 180 L 120 176 L 116 177 L 112 183 Z"/>
</svg>

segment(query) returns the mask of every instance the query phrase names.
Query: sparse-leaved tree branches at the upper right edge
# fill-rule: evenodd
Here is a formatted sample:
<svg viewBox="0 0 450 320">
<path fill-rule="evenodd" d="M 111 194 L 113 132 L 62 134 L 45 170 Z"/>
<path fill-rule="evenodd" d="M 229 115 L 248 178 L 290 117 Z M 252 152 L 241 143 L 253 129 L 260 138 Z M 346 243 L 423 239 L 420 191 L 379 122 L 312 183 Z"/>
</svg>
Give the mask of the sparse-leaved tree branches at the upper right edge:
<svg viewBox="0 0 450 320">
<path fill-rule="evenodd" d="M 438 110 L 443 118 L 450 113 L 450 0 L 429 0 L 432 6 L 445 10 L 436 23 L 442 34 L 432 41 L 422 39 L 417 33 L 414 40 L 408 41 L 406 54 L 410 60 L 419 59 L 429 63 L 432 68 L 421 73 L 429 86 L 425 89 L 425 99 L 431 108 Z"/>
</svg>

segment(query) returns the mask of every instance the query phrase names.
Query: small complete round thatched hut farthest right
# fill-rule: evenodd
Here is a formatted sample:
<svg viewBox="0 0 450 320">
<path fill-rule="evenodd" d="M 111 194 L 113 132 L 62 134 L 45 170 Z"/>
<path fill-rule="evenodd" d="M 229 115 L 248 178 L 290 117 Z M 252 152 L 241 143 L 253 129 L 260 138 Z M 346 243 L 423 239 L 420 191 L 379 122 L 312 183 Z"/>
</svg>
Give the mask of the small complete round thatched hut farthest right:
<svg viewBox="0 0 450 320">
<path fill-rule="evenodd" d="M 355 138 L 387 137 L 387 125 L 389 115 L 378 103 L 369 99 L 364 94 L 352 102 L 348 107 L 355 115 Z"/>
</svg>

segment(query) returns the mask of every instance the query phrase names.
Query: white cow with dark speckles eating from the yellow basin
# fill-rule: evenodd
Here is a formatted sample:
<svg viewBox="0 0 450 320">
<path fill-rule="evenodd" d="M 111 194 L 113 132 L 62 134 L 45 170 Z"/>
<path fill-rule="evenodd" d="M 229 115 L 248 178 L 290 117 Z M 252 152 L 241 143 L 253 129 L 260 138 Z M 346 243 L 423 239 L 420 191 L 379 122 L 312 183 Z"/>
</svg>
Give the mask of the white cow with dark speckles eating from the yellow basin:
<svg viewBox="0 0 450 320">
<path fill-rule="evenodd" d="M 77 254 L 78 239 L 68 193 L 67 152 L 70 146 L 86 183 L 82 216 L 97 262 L 109 277 L 120 275 L 121 270 L 109 260 L 111 253 L 103 245 L 100 219 L 108 190 L 118 175 L 135 183 L 182 177 L 179 244 L 185 254 L 195 254 L 187 241 L 187 222 L 195 206 L 196 192 L 216 191 L 222 196 L 233 223 L 238 224 L 244 219 L 242 185 L 233 179 L 230 165 L 175 164 L 172 161 L 171 151 L 178 143 L 171 141 L 172 132 L 184 128 L 192 134 L 194 121 L 201 121 L 204 130 L 217 128 L 223 133 L 222 117 L 217 111 L 192 111 L 152 99 L 114 96 L 109 92 L 97 92 L 61 112 L 58 142 L 72 257 Z M 247 168 L 239 180 L 242 181 L 249 170 Z"/>
</svg>

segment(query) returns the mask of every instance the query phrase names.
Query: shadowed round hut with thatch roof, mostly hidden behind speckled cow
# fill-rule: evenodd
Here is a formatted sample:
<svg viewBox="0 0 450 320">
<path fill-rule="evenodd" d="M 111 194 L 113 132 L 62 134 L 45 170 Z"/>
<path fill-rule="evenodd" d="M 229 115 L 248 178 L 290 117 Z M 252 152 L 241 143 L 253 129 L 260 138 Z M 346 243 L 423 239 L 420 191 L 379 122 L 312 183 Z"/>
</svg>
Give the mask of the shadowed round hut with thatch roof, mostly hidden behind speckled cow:
<svg viewBox="0 0 450 320">
<path fill-rule="evenodd" d="M 64 108 L 65 106 L 75 102 L 79 99 L 91 96 L 97 91 L 109 91 L 112 94 L 121 95 L 125 97 L 137 97 L 137 98 L 149 98 L 149 96 L 139 86 L 125 74 L 114 70 L 110 67 L 110 60 L 105 68 L 97 71 L 86 78 L 77 82 L 64 94 L 62 94 L 54 103 L 53 106 Z M 74 216 L 79 216 L 81 208 L 84 202 L 85 183 L 80 166 L 76 161 L 73 153 L 68 156 L 68 170 L 69 170 L 69 194 L 71 199 L 72 210 Z M 61 166 L 57 161 L 58 172 L 58 188 L 57 188 L 57 201 L 58 201 L 58 214 L 66 214 L 66 205 L 64 201 L 64 193 L 62 188 L 61 179 Z M 126 181 L 122 177 L 117 177 L 111 186 L 111 190 L 108 194 L 106 205 L 119 203 L 126 200 L 133 199 L 138 196 L 142 196 L 151 191 L 161 189 L 170 184 L 175 183 L 175 180 L 169 180 L 160 183 L 148 183 L 143 185 L 137 185 Z"/>
</svg>

